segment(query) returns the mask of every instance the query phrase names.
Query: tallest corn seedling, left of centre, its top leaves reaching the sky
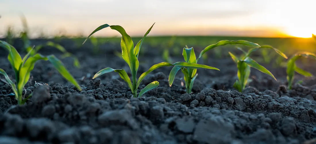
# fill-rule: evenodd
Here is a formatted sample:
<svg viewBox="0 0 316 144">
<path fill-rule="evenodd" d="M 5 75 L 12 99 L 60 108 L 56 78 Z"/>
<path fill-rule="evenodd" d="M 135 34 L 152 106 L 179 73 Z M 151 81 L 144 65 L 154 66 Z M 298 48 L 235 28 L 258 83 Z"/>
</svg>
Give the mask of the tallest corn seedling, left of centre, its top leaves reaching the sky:
<svg viewBox="0 0 316 144">
<path fill-rule="evenodd" d="M 174 64 L 170 64 L 168 62 L 161 62 L 159 64 L 155 64 L 153 66 L 151 66 L 149 68 L 148 71 L 144 72 L 143 74 L 141 74 L 141 76 L 138 78 L 136 78 L 136 74 L 137 74 L 137 70 L 139 67 L 139 61 L 138 61 L 138 55 L 139 55 L 139 51 L 140 48 L 142 46 L 142 43 L 145 39 L 145 37 L 147 36 L 147 34 L 149 34 L 151 28 L 154 25 L 152 25 L 149 30 L 146 32 L 146 34 L 143 36 L 143 38 L 136 44 L 136 46 L 134 47 L 134 43 L 131 39 L 131 37 L 125 32 L 125 29 L 122 28 L 119 25 L 108 25 L 108 24 L 104 24 L 101 25 L 100 27 L 96 28 L 89 36 L 88 38 L 94 34 L 95 32 L 103 29 L 103 28 L 107 28 L 110 27 L 111 29 L 114 29 L 116 31 L 118 31 L 121 35 L 121 48 L 122 48 L 122 58 L 125 60 L 125 62 L 128 64 L 128 66 L 130 67 L 131 70 L 131 74 L 132 74 L 132 80 L 129 78 L 129 76 L 127 75 L 126 71 L 124 69 L 113 69 L 110 67 L 107 67 L 105 69 L 100 70 L 99 72 L 97 72 L 93 78 L 97 78 L 99 76 L 101 76 L 102 74 L 108 73 L 108 72 L 118 72 L 120 77 L 127 83 L 128 87 L 131 89 L 133 97 L 141 97 L 145 92 L 150 91 L 156 87 L 159 86 L 159 82 L 158 81 L 154 81 L 149 83 L 147 86 L 145 86 L 138 94 L 137 96 L 137 89 L 139 87 L 139 85 L 141 84 L 142 80 L 145 78 L 145 76 L 147 76 L 150 72 L 152 72 L 153 70 L 160 68 L 162 66 L 178 66 L 178 67 L 190 67 L 190 68 L 197 68 L 197 67 L 202 67 L 204 65 L 199 65 L 199 64 L 190 64 L 190 63 L 186 63 L 186 62 L 176 62 Z M 87 39 L 88 39 L 87 38 Z M 86 40 L 87 40 L 86 39 Z M 84 43 L 84 42 L 83 42 Z"/>
</svg>

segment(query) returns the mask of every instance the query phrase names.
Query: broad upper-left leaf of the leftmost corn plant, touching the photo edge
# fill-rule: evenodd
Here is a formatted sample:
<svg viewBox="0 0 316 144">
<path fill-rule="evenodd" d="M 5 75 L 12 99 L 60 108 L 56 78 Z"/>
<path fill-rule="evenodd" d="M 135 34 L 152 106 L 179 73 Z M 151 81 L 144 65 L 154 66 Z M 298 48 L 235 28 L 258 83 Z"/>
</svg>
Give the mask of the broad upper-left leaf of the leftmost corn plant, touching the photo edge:
<svg viewBox="0 0 316 144">
<path fill-rule="evenodd" d="M 9 62 L 13 67 L 15 74 L 17 74 L 22 63 L 21 55 L 16 51 L 16 49 L 13 46 L 11 46 L 5 41 L 0 41 L 0 47 L 5 48 L 9 52 Z"/>
</svg>

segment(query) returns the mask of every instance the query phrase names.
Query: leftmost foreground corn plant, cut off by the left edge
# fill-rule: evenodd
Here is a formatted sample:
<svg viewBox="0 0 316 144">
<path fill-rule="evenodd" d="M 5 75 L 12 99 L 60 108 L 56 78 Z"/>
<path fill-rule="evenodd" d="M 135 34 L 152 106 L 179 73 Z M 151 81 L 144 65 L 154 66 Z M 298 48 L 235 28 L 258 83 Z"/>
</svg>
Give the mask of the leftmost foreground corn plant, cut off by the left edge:
<svg viewBox="0 0 316 144">
<path fill-rule="evenodd" d="M 76 80 L 72 77 L 72 75 L 67 71 L 63 63 L 56 58 L 54 55 L 43 56 L 37 53 L 38 49 L 31 49 L 24 58 L 21 58 L 21 55 L 16 51 L 16 49 L 8 44 L 5 41 L 0 41 L 0 47 L 3 47 L 5 50 L 9 52 L 8 60 L 15 72 L 15 81 L 16 85 L 11 79 L 9 78 L 8 74 L 3 70 L 0 69 L 0 74 L 4 75 L 5 80 L 11 85 L 12 90 L 15 94 L 15 98 L 18 101 L 19 105 L 22 105 L 26 102 L 28 96 L 23 99 L 23 88 L 27 84 L 28 80 L 30 79 L 31 71 L 34 69 L 35 63 L 38 60 L 48 60 L 52 63 L 52 65 L 56 68 L 56 70 L 69 82 L 76 86 L 76 88 L 81 91 L 81 87 L 78 85 Z"/>
</svg>

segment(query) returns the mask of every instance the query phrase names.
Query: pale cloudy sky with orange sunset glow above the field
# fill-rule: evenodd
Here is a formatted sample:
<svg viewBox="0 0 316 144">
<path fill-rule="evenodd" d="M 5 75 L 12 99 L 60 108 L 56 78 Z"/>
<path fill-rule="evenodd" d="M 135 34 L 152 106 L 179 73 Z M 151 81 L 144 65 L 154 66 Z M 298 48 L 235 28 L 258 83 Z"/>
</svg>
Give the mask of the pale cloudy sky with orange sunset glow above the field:
<svg viewBox="0 0 316 144">
<path fill-rule="evenodd" d="M 311 37 L 314 0 L 0 0 L 0 36 L 22 30 L 23 14 L 33 37 L 41 33 L 88 35 L 102 24 L 120 25 L 131 36 L 223 35 Z M 95 36 L 119 36 L 110 28 Z"/>
</svg>

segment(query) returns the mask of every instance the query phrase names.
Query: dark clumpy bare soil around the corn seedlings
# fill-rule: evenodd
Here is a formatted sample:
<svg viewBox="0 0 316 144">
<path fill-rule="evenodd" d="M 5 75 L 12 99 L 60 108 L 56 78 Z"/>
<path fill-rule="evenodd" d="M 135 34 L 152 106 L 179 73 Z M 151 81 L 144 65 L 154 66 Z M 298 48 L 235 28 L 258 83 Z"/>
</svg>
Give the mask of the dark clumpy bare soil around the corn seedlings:
<svg viewBox="0 0 316 144">
<path fill-rule="evenodd" d="M 32 40 L 33 44 L 45 41 Z M 47 61 L 36 63 L 24 93 L 33 92 L 33 97 L 25 105 L 16 106 L 11 87 L 0 82 L 0 144 L 316 143 L 315 78 L 296 74 L 295 82 L 303 82 L 287 90 L 286 69 L 264 65 L 278 81 L 252 69 L 250 87 L 240 93 L 232 86 L 237 79 L 233 60 L 215 59 L 210 54 L 203 64 L 221 71 L 198 69 L 192 94 L 185 93 L 181 72 L 169 87 L 172 67 L 161 67 L 143 80 L 139 90 L 155 80 L 159 87 L 132 98 L 115 72 L 92 79 L 105 67 L 123 68 L 130 74 L 125 61 L 113 54 L 120 50 L 119 43 L 101 45 L 97 54 L 89 43 L 80 48 L 71 39 L 59 43 L 80 60 L 78 69 L 71 58 L 62 59 L 83 91 L 66 82 Z M 14 44 L 23 55 L 21 45 L 21 41 Z M 143 47 L 148 50 L 139 56 L 138 76 L 163 61 L 161 50 Z M 49 47 L 40 53 L 60 57 Z M 183 61 L 181 53 L 173 60 Z M 13 78 L 3 49 L 0 61 L 0 68 Z M 316 75 L 315 66 L 299 66 Z M 48 86 L 41 85 L 45 83 Z"/>
</svg>

